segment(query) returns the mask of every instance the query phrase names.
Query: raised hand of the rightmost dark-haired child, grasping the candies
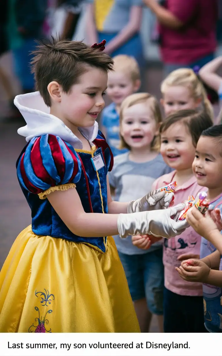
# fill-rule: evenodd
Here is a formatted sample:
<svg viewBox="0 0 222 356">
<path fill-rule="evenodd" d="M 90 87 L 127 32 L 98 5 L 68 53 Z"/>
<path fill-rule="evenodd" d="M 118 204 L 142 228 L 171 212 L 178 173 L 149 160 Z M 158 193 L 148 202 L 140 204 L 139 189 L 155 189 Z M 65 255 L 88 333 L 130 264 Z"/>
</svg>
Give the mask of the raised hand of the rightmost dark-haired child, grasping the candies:
<svg viewBox="0 0 222 356">
<path fill-rule="evenodd" d="M 211 218 L 211 214 L 208 211 L 205 215 L 201 214 L 196 206 L 192 206 L 187 211 L 186 221 L 197 234 L 205 237 L 207 240 L 210 240 L 210 234 L 212 234 L 213 230 L 218 230 L 216 223 Z"/>
</svg>

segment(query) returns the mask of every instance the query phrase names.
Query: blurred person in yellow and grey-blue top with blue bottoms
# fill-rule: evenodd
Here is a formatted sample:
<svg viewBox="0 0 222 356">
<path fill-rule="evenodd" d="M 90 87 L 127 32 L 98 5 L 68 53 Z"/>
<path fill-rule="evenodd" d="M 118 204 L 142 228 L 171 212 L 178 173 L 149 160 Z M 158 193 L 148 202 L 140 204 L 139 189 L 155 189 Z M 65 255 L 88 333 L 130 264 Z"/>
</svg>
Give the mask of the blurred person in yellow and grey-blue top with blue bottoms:
<svg viewBox="0 0 222 356">
<path fill-rule="evenodd" d="M 127 54 L 143 65 L 142 0 L 87 0 L 87 42 L 107 41 L 110 56 Z"/>
</svg>

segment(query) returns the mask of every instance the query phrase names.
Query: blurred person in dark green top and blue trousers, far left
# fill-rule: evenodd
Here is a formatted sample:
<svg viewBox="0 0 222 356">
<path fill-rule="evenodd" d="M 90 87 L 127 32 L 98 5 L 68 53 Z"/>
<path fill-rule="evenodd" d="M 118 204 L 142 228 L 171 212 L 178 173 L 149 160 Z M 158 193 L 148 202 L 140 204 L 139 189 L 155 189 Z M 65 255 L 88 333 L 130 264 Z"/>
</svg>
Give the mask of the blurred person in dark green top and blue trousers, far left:
<svg viewBox="0 0 222 356">
<path fill-rule="evenodd" d="M 12 50 L 15 74 L 20 80 L 23 93 L 35 90 L 30 70 L 31 52 L 36 39 L 42 37 L 47 0 L 9 0 L 8 39 Z"/>
</svg>

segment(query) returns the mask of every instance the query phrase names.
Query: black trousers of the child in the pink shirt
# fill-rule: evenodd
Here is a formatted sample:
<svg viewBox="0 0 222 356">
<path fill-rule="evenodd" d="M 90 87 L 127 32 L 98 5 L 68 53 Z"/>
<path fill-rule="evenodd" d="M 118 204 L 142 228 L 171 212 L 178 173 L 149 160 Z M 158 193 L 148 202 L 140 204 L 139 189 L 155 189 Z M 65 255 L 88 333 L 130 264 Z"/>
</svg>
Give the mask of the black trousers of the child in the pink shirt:
<svg viewBox="0 0 222 356">
<path fill-rule="evenodd" d="M 164 288 L 164 333 L 207 333 L 203 297 L 179 295 Z"/>
</svg>

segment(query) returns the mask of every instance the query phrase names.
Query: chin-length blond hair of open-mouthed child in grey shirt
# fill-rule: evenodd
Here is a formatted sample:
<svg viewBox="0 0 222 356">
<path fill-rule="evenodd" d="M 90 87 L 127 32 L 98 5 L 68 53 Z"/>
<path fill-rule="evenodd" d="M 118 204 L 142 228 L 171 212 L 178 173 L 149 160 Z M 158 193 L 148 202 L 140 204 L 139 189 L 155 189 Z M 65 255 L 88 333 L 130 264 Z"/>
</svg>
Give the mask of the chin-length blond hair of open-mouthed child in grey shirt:
<svg viewBox="0 0 222 356">
<path fill-rule="evenodd" d="M 120 115 L 119 115 L 120 127 L 123 121 L 123 111 L 127 108 L 130 108 L 130 106 L 141 104 L 141 103 L 149 105 L 151 111 L 153 112 L 154 119 L 157 125 L 162 122 L 160 106 L 155 96 L 149 93 L 135 93 L 127 96 L 127 98 L 123 100 L 120 106 Z M 120 135 L 120 148 L 128 148 L 128 150 L 130 150 L 130 147 L 124 141 L 122 135 Z M 151 150 L 158 151 L 159 148 L 160 148 L 160 143 L 158 137 L 155 136 L 153 142 L 151 143 Z"/>
</svg>

